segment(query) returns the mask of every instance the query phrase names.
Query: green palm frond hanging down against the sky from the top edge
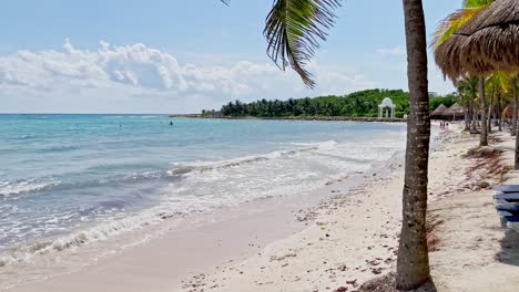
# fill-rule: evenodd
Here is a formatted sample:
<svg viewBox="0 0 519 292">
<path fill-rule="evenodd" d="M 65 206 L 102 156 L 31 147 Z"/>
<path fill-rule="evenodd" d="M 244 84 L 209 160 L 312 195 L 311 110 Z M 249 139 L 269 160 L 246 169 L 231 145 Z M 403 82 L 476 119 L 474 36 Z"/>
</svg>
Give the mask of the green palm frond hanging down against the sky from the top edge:
<svg viewBox="0 0 519 292">
<path fill-rule="evenodd" d="M 308 87 L 314 87 L 312 74 L 305 69 L 326 40 L 326 29 L 334 24 L 334 9 L 342 0 L 275 0 L 263 31 L 268 56 L 285 70 L 291 66 Z"/>
</svg>

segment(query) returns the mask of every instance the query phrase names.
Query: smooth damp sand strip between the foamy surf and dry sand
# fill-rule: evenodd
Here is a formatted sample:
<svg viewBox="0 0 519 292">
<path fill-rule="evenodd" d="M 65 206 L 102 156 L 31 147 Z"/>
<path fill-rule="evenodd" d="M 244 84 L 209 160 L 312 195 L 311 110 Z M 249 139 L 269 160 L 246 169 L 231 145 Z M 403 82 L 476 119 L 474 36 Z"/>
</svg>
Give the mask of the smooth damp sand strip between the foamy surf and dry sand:
<svg viewBox="0 0 519 292">
<path fill-rule="evenodd" d="M 113 290 L 114 286 L 126 283 L 126 278 L 136 282 L 131 288 L 125 286 L 125 292 L 150 288 L 152 291 L 171 291 L 172 286 L 181 286 L 181 281 L 195 272 L 208 272 L 215 265 L 224 265 L 230 260 L 242 261 L 254 255 L 258 248 L 301 232 L 314 217 L 313 209 L 335 196 L 336 189 L 355 188 L 374 178 L 381 178 L 387 165 L 401 164 L 403 159 L 404 154 L 397 152 L 388 160 L 375 164 L 368 171 L 328 180 L 311 191 L 255 199 L 240 206 L 201 213 L 199 219 L 191 218 L 194 221 L 200 220 L 194 228 L 181 227 L 176 230 L 175 225 L 171 225 L 170 231 L 164 234 L 129 249 L 116 250 L 113 254 L 99 258 L 93 264 L 74 267 L 70 271 L 61 269 L 59 274 L 49 273 L 48 279 L 33 279 L 0 291 L 59 291 L 64 288 L 67 291 L 82 291 L 82 286 L 89 288 L 85 291 L 91 291 L 90 282 L 99 283 L 100 290 L 110 288 L 110 291 L 116 291 Z M 230 212 L 232 216 L 228 216 Z M 189 222 L 186 218 L 183 226 Z M 272 230 L 272 226 L 278 228 Z M 254 232 L 251 233 L 250 230 Z M 118 240 L 109 243 L 114 246 L 116 242 Z M 174 247 L 174 250 L 169 247 Z M 187 260 L 189 254 L 193 257 Z"/>
</svg>

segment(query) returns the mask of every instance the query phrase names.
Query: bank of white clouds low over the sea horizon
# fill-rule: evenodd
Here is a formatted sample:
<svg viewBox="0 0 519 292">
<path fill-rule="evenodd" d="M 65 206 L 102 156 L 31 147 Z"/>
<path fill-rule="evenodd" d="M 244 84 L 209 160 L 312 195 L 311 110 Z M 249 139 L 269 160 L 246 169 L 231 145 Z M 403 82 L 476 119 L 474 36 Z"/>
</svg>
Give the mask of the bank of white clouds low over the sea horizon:
<svg viewBox="0 0 519 292">
<path fill-rule="evenodd" d="M 272 63 L 240 61 L 230 66 L 180 64 L 173 55 L 138 43 L 80 50 L 0 55 L 0 112 L 196 112 L 231 100 L 344 94 L 374 87 L 355 72 L 308 67 L 318 87 Z"/>
</svg>

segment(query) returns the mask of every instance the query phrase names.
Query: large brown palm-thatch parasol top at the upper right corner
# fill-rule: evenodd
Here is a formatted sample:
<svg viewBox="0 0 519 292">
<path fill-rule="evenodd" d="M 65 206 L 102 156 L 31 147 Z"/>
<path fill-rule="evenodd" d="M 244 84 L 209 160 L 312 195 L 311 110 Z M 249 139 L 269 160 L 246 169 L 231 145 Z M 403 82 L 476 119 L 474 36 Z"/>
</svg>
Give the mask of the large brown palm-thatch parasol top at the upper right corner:
<svg viewBox="0 0 519 292">
<path fill-rule="evenodd" d="M 452 81 L 519 72 L 519 1 L 490 3 L 435 50 L 435 61 Z"/>
</svg>

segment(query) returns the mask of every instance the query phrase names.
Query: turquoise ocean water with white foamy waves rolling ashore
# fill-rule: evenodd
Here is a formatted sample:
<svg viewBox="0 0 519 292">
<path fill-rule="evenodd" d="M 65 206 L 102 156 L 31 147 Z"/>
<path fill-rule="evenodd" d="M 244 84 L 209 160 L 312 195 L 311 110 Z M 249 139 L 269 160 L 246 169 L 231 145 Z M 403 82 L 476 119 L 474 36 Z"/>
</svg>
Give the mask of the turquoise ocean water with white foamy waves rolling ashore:
<svg viewBox="0 0 519 292">
<path fill-rule="evenodd" d="M 0 115 L 0 272 L 367 171 L 403 152 L 405 135 L 384 123 Z"/>
</svg>

